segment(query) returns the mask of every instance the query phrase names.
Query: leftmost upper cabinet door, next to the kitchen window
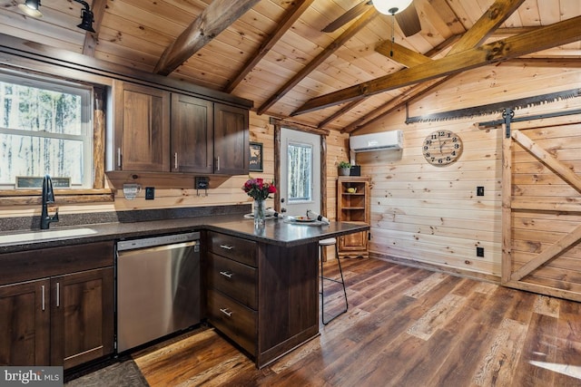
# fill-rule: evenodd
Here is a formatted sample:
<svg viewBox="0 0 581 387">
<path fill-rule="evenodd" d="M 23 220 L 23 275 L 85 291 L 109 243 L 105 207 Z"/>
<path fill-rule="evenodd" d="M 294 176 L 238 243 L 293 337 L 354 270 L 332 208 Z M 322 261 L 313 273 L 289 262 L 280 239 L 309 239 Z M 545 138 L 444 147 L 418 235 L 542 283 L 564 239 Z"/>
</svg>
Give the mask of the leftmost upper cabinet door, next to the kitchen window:
<svg viewBox="0 0 581 387">
<path fill-rule="evenodd" d="M 170 92 L 126 82 L 113 87 L 114 170 L 169 171 Z"/>
</svg>

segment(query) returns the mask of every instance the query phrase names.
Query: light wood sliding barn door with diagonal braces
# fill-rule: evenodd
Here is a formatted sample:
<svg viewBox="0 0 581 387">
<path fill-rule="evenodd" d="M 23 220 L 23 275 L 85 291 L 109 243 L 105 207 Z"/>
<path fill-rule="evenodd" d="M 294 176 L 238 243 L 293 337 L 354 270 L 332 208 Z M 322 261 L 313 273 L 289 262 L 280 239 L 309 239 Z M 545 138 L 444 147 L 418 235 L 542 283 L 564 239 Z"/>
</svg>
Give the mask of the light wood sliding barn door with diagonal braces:
<svg viewBox="0 0 581 387">
<path fill-rule="evenodd" d="M 579 122 L 513 123 L 503 140 L 503 285 L 581 301 Z"/>
</svg>

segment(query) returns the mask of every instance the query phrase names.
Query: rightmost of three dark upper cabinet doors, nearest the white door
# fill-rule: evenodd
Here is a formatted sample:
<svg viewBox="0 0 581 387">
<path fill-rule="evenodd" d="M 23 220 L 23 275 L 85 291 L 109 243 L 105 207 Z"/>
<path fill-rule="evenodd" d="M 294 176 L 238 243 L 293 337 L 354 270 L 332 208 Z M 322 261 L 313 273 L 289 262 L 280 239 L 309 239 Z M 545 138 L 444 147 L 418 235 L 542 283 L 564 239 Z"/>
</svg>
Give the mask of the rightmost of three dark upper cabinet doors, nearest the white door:
<svg viewBox="0 0 581 387">
<path fill-rule="evenodd" d="M 214 103 L 214 173 L 247 175 L 248 111 Z"/>
</svg>

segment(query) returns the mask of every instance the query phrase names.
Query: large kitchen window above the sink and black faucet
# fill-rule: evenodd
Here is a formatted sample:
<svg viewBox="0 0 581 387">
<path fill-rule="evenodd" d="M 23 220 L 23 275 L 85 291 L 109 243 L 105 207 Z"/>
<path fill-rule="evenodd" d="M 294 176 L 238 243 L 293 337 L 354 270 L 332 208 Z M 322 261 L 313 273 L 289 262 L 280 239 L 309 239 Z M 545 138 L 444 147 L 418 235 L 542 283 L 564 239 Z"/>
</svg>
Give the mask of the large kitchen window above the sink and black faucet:
<svg viewBox="0 0 581 387">
<path fill-rule="evenodd" d="M 81 85 L 0 73 L 0 188 L 45 174 L 92 188 L 91 95 Z"/>
</svg>

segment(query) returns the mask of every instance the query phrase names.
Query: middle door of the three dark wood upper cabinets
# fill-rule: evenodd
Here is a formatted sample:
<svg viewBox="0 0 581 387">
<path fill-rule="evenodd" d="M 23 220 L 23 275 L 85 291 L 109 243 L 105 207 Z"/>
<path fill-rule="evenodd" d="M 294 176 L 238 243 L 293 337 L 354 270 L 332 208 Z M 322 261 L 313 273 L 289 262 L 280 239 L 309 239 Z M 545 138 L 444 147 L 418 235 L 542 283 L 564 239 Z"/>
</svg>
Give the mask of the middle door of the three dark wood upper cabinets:
<svg viewBox="0 0 581 387">
<path fill-rule="evenodd" d="M 172 171 L 213 173 L 213 102 L 172 94 Z"/>
</svg>

